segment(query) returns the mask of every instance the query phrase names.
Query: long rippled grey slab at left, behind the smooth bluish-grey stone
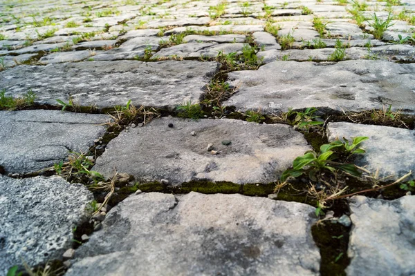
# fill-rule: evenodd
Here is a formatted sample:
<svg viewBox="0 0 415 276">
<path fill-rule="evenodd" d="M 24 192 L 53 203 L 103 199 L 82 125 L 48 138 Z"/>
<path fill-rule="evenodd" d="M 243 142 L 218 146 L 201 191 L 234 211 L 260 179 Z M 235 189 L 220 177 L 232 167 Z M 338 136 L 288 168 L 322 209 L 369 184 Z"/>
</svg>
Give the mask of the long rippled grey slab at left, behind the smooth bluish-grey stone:
<svg viewBox="0 0 415 276">
<path fill-rule="evenodd" d="M 47 66 L 18 66 L 0 72 L 6 95 L 32 89 L 37 102 L 56 106 L 71 95 L 81 106 L 174 108 L 183 101 L 199 102 L 203 86 L 219 63 L 199 61 L 83 61 Z"/>
</svg>

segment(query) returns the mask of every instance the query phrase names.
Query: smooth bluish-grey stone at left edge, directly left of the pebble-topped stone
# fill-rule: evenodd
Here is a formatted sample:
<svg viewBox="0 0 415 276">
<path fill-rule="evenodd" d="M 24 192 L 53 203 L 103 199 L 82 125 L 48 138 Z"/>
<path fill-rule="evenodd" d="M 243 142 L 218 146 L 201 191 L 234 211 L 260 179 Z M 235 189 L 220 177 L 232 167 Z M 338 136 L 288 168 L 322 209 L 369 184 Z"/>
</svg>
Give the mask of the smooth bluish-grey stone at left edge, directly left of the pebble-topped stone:
<svg viewBox="0 0 415 276">
<path fill-rule="evenodd" d="M 0 111 L 0 165 L 6 172 L 33 172 L 88 152 L 104 135 L 107 115 L 59 110 Z"/>
</svg>

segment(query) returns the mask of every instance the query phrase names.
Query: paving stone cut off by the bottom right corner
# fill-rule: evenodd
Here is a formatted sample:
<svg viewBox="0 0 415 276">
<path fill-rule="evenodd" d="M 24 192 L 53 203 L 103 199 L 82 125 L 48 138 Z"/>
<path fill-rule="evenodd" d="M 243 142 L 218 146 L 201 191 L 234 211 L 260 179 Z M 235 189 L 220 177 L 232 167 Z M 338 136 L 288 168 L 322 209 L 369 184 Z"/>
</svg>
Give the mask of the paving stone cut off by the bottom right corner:
<svg viewBox="0 0 415 276">
<path fill-rule="evenodd" d="M 351 198 L 347 275 L 414 275 L 415 196 Z"/>
</svg>

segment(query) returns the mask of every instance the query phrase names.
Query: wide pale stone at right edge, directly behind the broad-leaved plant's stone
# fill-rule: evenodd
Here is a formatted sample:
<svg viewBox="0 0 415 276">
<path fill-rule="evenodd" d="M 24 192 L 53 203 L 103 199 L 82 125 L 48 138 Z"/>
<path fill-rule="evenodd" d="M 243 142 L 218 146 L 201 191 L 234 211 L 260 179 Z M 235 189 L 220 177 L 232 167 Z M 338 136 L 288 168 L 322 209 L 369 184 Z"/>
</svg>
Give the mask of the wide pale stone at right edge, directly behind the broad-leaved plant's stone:
<svg viewBox="0 0 415 276">
<path fill-rule="evenodd" d="M 290 107 L 358 111 L 391 104 L 414 114 L 414 74 L 415 63 L 276 61 L 257 71 L 230 72 L 228 79 L 239 90 L 224 103 L 264 112 Z"/>
</svg>

